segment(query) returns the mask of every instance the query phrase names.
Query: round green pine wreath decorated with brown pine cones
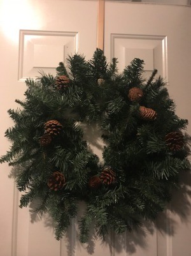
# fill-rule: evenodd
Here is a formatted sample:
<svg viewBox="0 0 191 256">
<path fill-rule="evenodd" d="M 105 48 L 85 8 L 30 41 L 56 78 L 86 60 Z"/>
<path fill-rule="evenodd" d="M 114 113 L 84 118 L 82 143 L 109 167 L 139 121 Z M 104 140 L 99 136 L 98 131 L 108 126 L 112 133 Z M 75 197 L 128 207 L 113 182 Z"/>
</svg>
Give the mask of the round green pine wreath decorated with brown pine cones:
<svg viewBox="0 0 191 256">
<path fill-rule="evenodd" d="M 67 66 L 59 63 L 56 77 L 27 79 L 25 100 L 16 100 L 21 109 L 8 110 L 15 126 L 6 130 L 12 144 L 1 163 L 20 167 L 20 207 L 34 201 L 38 213 L 48 212 L 57 239 L 81 201 L 82 243 L 92 225 L 105 237 L 155 220 L 190 166 L 181 132 L 188 122 L 176 116 L 157 70 L 143 79 L 143 65 L 134 59 L 118 74 L 117 59 L 107 63 L 100 49 L 90 61 L 75 54 Z M 84 139 L 84 126 L 92 124 L 102 131 L 103 161 Z"/>
</svg>

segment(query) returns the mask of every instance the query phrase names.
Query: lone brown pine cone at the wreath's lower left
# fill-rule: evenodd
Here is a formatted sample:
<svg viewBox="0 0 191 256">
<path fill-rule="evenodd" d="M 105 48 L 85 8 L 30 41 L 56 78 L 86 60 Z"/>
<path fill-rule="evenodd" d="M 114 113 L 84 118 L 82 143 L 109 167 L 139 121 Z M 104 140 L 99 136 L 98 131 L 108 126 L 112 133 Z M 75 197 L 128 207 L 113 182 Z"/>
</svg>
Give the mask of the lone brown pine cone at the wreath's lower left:
<svg viewBox="0 0 191 256">
<path fill-rule="evenodd" d="M 61 190 L 65 184 L 65 177 L 61 172 L 53 172 L 52 176 L 48 179 L 47 184 L 50 190 Z"/>
</svg>

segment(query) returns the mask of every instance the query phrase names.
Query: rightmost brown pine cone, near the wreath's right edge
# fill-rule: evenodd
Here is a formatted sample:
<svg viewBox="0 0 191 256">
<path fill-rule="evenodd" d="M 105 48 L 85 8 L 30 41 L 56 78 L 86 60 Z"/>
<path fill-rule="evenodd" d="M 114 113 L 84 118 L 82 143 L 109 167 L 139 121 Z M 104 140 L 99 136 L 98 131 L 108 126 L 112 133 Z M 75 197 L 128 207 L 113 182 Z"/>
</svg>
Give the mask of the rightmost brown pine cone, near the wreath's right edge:
<svg viewBox="0 0 191 256">
<path fill-rule="evenodd" d="M 172 151 L 180 150 L 183 147 L 183 134 L 180 132 L 170 132 L 165 136 L 165 141 Z"/>
</svg>

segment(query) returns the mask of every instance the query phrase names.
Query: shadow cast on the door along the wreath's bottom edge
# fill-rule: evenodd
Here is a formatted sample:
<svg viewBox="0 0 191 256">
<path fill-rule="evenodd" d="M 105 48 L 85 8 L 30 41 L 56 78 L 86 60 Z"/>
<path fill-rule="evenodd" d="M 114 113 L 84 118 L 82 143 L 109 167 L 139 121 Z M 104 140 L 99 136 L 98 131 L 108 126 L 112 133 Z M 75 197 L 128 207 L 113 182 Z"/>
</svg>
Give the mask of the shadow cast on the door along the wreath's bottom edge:
<svg viewBox="0 0 191 256">
<path fill-rule="evenodd" d="M 146 250 L 150 247 L 148 243 L 148 235 L 153 236 L 157 230 L 161 232 L 163 235 L 173 236 L 176 233 L 176 228 L 178 223 L 174 220 L 173 216 L 178 215 L 181 222 L 187 223 L 191 215 L 191 171 L 183 172 L 180 176 L 180 189 L 174 191 L 173 199 L 171 204 L 166 212 L 160 213 L 159 218 L 157 219 L 157 224 L 153 225 L 151 222 L 145 222 L 143 229 L 138 229 L 134 232 L 127 232 L 121 235 L 110 234 L 107 237 L 106 241 L 98 241 L 99 245 L 105 247 L 108 246 L 108 249 L 112 252 L 126 252 L 129 255 L 134 255 L 137 252 L 138 246 Z M 38 202 L 32 202 L 30 205 L 31 212 L 31 222 L 39 222 L 41 221 L 41 217 L 34 212 L 34 207 Z M 76 223 L 80 219 L 80 215 L 82 215 L 83 211 L 85 211 L 85 204 L 81 202 L 80 211 L 76 220 L 73 220 L 72 225 L 68 228 L 66 236 L 64 238 L 65 247 L 67 249 L 67 256 L 73 256 L 76 248 L 78 250 L 86 250 L 88 254 L 92 255 L 96 252 L 96 244 L 97 237 L 94 233 L 94 230 L 90 232 L 90 238 L 88 243 L 81 244 L 78 241 L 78 228 Z M 173 213 L 173 214 L 171 214 Z M 52 234 L 53 230 L 53 221 L 50 216 L 46 215 L 43 218 L 45 227 L 51 230 Z M 167 228 L 169 227 L 170 228 Z"/>
</svg>

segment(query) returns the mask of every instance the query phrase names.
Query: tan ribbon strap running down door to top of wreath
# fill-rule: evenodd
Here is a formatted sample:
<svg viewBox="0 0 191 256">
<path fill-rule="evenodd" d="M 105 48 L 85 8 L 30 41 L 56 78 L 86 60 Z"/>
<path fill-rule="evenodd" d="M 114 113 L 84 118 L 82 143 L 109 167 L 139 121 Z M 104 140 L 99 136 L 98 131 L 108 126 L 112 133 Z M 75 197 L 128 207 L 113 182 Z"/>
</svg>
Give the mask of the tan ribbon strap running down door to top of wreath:
<svg viewBox="0 0 191 256">
<path fill-rule="evenodd" d="M 105 8 L 105 1 L 98 0 L 97 48 L 101 50 L 104 50 L 104 8 Z"/>
</svg>

